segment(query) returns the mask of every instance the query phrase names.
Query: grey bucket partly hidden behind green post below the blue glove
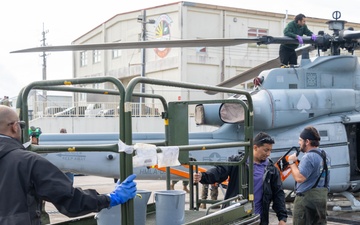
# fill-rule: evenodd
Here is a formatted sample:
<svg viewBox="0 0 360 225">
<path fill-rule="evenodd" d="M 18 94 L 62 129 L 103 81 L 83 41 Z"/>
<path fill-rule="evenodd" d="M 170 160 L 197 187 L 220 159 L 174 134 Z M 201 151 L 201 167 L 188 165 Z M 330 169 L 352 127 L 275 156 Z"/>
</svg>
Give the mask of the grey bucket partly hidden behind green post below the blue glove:
<svg viewBox="0 0 360 225">
<path fill-rule="evenodd" d="M 134 198 L 134 224 L 145 225 L 147 202 L 151 191 L 137 190 L 136 193 L 140 194 L 141 197 L 136 195 Z M 95 219 L 98 225 L 121 224 L 121 205 L 111 207 L 110 209 L 102 209 L 96 214 Z"/>
</svg>

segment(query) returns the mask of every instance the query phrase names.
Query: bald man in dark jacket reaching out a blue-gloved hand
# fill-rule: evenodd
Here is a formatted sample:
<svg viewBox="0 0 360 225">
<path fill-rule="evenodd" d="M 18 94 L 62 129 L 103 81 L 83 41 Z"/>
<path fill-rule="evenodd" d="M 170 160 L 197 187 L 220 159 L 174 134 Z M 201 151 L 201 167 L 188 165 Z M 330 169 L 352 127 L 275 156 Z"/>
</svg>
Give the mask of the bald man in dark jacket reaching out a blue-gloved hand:
<svg viewBox="0 0 360 225">
<path fill-rule="evenodd" d="M 135 197 L 134 174 L 108 195 L 74 188 L 51 162 L 26 151 L 20 142 L 24 127 L 13 109 L 0 105 L 0 224 L 40 225 L 41 200 L 53 203 L 68 217 L 76 217 Z"/>
</svg>

